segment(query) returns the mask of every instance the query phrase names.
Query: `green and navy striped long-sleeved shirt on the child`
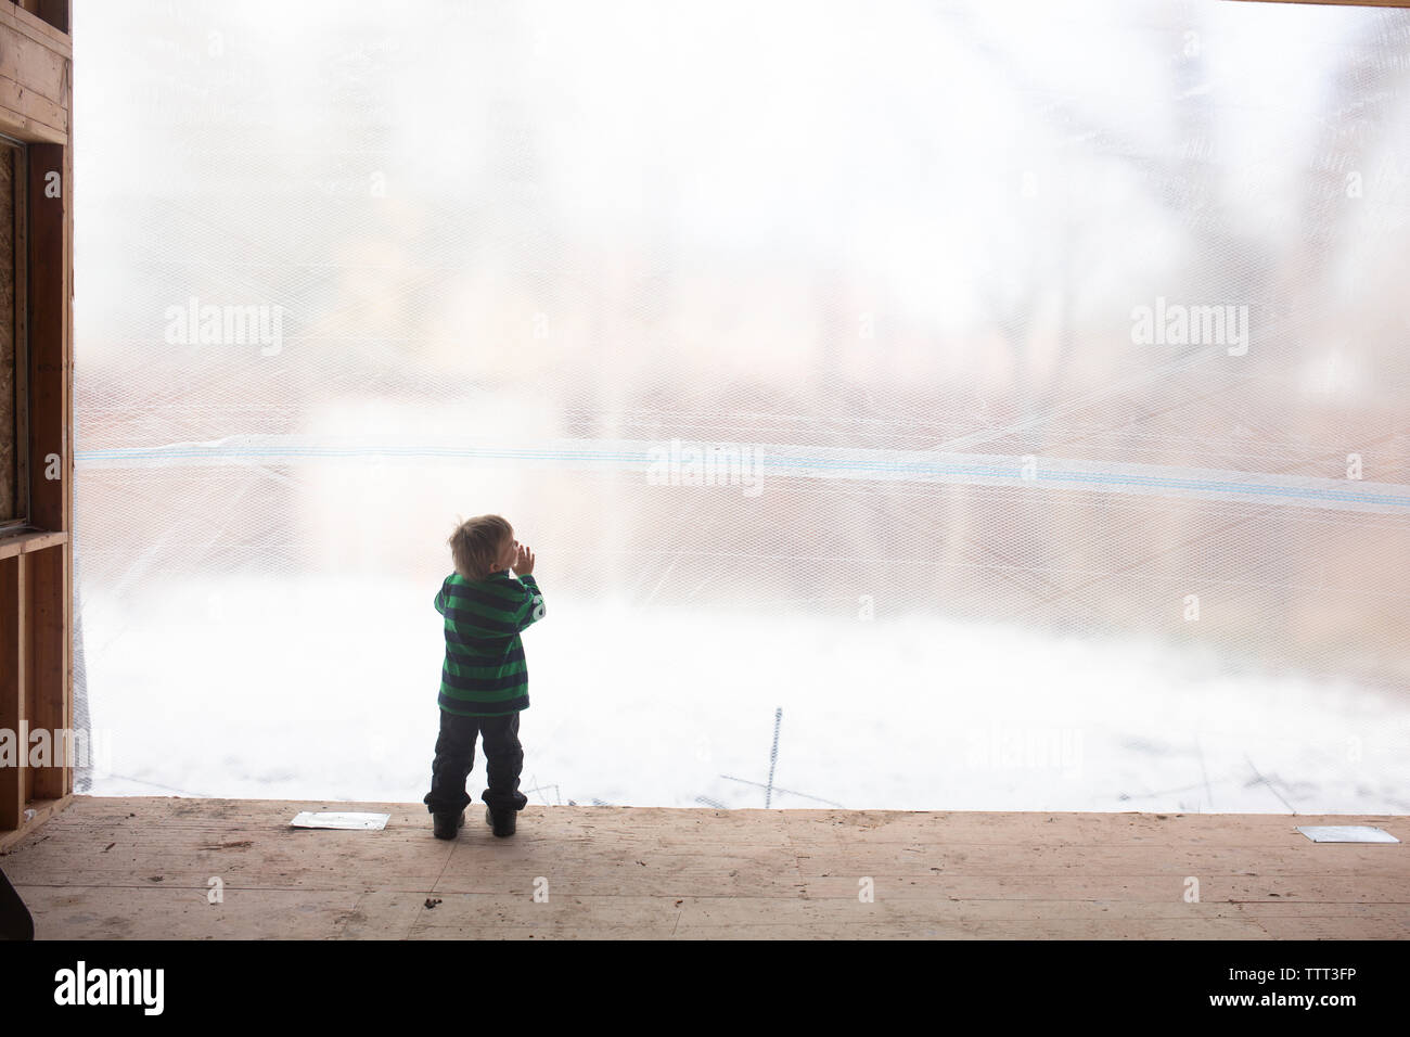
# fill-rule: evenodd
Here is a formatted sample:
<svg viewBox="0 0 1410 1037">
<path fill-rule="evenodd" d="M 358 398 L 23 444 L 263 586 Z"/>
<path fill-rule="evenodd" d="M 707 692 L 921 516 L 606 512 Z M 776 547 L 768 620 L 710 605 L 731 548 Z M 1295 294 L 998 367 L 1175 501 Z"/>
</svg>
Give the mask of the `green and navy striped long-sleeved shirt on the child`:
<svg viewBox="0 0 1410 1037">
<path fill-rule="evenodd" d="M 503 569 L 484 580 L 460 573 L 436 594 L 446 617 L 446 663 L 440 708 L 457 717 L 503 717 L 529 708 L 529 667 L 519 632 L 543 618 L 543 594 L 532 576 Z"/>
</svg>

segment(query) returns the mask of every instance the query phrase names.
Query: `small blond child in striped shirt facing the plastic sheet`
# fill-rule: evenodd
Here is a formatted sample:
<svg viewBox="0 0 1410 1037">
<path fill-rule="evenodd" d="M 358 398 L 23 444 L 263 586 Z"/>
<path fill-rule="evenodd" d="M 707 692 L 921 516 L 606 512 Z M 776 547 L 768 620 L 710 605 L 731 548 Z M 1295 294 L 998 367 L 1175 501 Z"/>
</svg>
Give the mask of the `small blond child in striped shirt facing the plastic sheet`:
<svg viewBox="0 0 1410 1037">
<path fill-rule="evenodd" d="M 533 552 L 498 515 L 457 526 L 450 550 L 455 571 L 436 595 L 436 611 L 446 618 L 446 662 L 426 810 L 434 817 L 436 838 L 455 838 L 471 801 L 465 782 L 475 763 L 478 734 L 485 741 L 489 784 L 481 796 L 485 821 L 495 835 L 513 835 L 515 815 L 529 804 L 519 792 L 525 762 L 519 711 L 529 708 L 529 670 L 519 632 L 543 618 L 543 595 L 533 577 Z"/>
</svg>

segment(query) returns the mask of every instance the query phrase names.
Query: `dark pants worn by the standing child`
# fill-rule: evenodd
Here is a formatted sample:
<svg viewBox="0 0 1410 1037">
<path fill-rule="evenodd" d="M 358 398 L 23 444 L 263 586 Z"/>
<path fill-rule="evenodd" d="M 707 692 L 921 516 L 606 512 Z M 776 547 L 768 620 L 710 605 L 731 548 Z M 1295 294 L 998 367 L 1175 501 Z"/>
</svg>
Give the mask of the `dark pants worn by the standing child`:
<svg viewBox="0 0 1410 1037">
<path fill-rule="evenodd" d="M 475 766 L 475 736 L 485 739 L 485 773 L 489 787 L 481 799 L 495 810 L 523 810 L 529 797 L 519 792 L 525 751 L 519 745 L 519 714 L 503 717 L 457 717 L 441 711 L 441 729 L 436 738 L 431 762 L 431 790 L 426 810 L 433 814 L 458 814 L 470 806 L 465 783 Z"/>
</svg>

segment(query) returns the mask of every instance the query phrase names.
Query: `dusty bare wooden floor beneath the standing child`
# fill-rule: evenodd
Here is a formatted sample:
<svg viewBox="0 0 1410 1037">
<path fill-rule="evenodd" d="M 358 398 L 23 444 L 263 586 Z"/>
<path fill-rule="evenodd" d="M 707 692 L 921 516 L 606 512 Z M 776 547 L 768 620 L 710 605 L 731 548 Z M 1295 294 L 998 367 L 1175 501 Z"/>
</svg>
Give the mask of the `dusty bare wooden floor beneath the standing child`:
<svg viewBox="0 0 1410 1037">
<path fill-rule="evenodd" d="M 300 810 L 392 817 L 289 828 Z M 1406 839 L 1403 817 L 642 807 L 529 807 L 498 839 L 472 806 L 443 842 L 419 803 L 79 796 L 0 869 L 51 940 L 1406 940 Z"/>
</svg>

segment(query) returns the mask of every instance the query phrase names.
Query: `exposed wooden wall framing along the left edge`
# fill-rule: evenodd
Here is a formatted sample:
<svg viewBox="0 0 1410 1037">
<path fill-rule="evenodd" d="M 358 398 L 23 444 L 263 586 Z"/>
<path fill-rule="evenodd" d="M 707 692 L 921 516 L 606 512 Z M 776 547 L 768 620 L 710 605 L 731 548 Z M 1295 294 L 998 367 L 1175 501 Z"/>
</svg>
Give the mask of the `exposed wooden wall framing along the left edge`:
<svg viewBox="0 0 1410 1037">
<path fill-rule="evenodd" d="M 0 0 L 0 134 L 16 145 L 13 295 L 21 514 L 0 532 L 0 844 L 69 801 L 73 148 L 69 0 Z M 10 277 L 10 275 L 7 275 Z M 30 763 L 45 732 L 45 766 Z M 38 742 L 42 745 L 44 742 Z"/>
</svg>

